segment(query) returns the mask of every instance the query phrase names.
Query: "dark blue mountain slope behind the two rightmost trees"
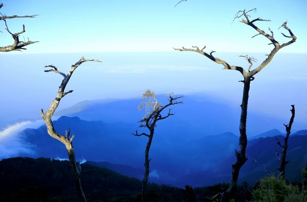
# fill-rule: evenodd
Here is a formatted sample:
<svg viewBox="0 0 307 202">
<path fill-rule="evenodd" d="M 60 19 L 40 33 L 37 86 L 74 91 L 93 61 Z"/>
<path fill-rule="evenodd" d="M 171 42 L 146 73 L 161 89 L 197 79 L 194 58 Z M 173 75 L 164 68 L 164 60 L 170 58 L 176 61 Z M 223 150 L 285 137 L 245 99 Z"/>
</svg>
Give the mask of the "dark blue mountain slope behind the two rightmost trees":
<svg viewBox="0 0 307 202">
<path fill-rule="evenodd" d="M 281 152 L 281 148 L 277 145 L 276 138 L 283 141 L 284 136 L 275 136 L 267 138 L 259 138 L 248 146 L 246 156 L 248 161 L 240 170 L 239 182 L 247 181 L 250 184 L 255 184 L 257 180 L 266 176 L 264 168 L 254 162 L 264 166 L 268 173 L 275 172 L 279 161 L 276 156 L 276 149 Z M 290 163 L 286 166 L 286 180 L 290 182 L 301 181 L 301 168 L 307 165 L 307 136 L 294 135 L 289 138 L 289 147 L 287 153 L 287 160 Z M 225 158 L 223 163 L 216 166 L 214 169 L 206 169 L 186 175 L 182 180 L 178 181 L 178 185 L 184 183 L 192 184 L 194 186 L 206 186 L 216 183 L 229 182 L 231 173 L 231 164 L 235 162 L 234 155 L 230 158 Z"/>
</svg>

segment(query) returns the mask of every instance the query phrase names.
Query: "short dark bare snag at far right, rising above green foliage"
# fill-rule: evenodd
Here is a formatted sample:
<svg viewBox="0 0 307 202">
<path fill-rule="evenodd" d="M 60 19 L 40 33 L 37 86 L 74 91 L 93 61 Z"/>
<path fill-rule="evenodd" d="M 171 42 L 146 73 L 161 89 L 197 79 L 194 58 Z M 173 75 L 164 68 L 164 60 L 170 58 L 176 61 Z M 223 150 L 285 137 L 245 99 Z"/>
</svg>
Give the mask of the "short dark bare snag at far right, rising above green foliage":
<svg viewBox="0 0 307 202">
<path fill-rule="evenodd" d="M 286 165 L 290 162 L 290 161 L 286 161 L 286 156 L 287 156 L 287 149 L 288 149 L 288 139 L 289 139 L 289 136 L 291 134 L 291 127 L 292 127 L 292 124 L 293 124 L 293 121 L 294 121 L 294 116 L 295 116 L 295 108 L 294 108 L 294 105 L 291 105 L 292 109 L 290 110 L 292 115 L 291 115 L 291 118 L 290 118 L 290 121 L 289 121 L 289 124 L 283 124 L 284 127 L 286 127 L 286 131 L 287 131 L 287 134 L 286 134 L 286 137 L 283 139 L 284 141 L 284 144 L 282 145 L 280 143 L 280 141 L 276 138 L 277 140 L 277 144 L 282 148 L 282 152 L 281 152 L 281 157 L 279 158 L 279 154 L 276 150 L 276 155 L 280 161 L 280 166 L 279 168 L 277 168 L 279 170 L 279 175 L 284 178 L 284 170 L 286 168 Z"/>
</svg>

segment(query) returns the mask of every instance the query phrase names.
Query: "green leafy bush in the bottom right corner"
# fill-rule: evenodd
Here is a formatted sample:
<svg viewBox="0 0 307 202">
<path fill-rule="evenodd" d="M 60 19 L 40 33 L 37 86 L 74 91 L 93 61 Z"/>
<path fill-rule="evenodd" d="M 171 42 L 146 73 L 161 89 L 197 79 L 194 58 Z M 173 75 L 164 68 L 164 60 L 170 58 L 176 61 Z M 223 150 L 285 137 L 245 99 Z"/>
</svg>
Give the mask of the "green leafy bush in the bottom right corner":
<svg viewBox="0 0 307 202">
<path fill-rule="evenodd" d="M 253 191 L 255 201 L 306 201 L 306 189 L 288 184 L 281 176 L 274 175 L 261 179 Z"/>
</svg>

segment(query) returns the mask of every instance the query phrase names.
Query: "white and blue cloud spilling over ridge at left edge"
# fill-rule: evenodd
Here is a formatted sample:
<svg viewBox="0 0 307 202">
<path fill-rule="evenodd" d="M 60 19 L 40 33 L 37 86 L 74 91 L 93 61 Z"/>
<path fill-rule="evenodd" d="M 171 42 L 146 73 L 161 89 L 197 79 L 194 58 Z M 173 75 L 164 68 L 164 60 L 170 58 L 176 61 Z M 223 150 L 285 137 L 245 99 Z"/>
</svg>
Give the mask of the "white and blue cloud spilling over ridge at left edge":
<svg viewBox="0 0 307 202">
<path fill-rule="evenodd" d="M 23 121 L 0 131 L 0 159 L 34 154 L 33 145 L 19 132 L 27 128 L 38 128 L 41 124 L 41 120 Z"/>
</svg>

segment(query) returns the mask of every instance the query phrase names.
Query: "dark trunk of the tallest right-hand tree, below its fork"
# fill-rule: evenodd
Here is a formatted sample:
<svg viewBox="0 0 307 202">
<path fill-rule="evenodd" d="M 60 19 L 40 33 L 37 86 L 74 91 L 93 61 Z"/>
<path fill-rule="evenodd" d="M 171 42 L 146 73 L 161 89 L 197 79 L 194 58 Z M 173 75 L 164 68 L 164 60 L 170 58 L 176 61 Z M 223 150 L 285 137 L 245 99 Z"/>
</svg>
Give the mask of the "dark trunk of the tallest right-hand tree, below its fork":
<svg viewBox="0 0 307 202">
<path fill-rule="evenodd" d="M 235 150 L 235 156 L 237 161 L 232 164 L 231 181 L 229 188 L 226 192 L 222 194 L 221 201 L 229 201 L 230 196 L 235 192 L 237 187 L 237 181 L 239 176 L 240 168 L 247 161 L 245 156 L 246 146 L 247 146 L 247 136 L 246 136 L 246 120 L 247 120 L 247 106 L 248 106 L 248 96 L 251 78 L 246 77 L 244 81 L 243 97 L 241 106 L 241 116 L 240 116 L 240 137 L 239 137 L 239 150 Z"/>
</svg>

